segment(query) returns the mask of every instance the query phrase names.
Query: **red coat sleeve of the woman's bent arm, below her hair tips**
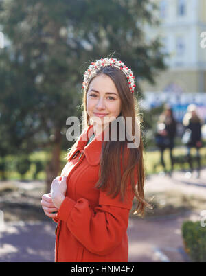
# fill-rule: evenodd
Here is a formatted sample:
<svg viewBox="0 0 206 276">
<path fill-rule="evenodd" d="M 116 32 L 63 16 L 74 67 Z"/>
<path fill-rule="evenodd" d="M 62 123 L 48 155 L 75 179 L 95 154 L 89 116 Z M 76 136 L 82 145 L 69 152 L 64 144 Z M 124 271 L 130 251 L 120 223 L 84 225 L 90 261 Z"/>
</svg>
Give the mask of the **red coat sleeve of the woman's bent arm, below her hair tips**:
<svg viewBox="0 0 206 276">
<path fill-rule="evenodd" d="M 87 250 L 98 255 L 107 255 L 122 242 L 128 228 L 129 211 L 134 194 L 127 185 L 127 199 L 122 202 L 100 192 L 99 204 L 92 208 L 89 201 L 77 201 L 66 197 L 58 210 L 57 218 L 67 223 L 68 229 Z"/>
</svg>

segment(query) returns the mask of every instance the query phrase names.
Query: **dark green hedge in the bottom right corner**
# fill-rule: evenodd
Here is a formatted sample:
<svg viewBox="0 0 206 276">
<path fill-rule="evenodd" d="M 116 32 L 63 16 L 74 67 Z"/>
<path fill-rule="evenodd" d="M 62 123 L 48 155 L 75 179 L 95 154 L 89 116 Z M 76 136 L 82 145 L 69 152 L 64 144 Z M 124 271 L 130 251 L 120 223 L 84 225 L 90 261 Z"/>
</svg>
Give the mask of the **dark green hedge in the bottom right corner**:
<svg viewBox="0 0 206 276">
<path fill-rule="evenodd" d="M 185 251 L 193 262 L 206 262 L 206 227 L 201 222 L 187 220 L 182 225 Z"/>
</svg>

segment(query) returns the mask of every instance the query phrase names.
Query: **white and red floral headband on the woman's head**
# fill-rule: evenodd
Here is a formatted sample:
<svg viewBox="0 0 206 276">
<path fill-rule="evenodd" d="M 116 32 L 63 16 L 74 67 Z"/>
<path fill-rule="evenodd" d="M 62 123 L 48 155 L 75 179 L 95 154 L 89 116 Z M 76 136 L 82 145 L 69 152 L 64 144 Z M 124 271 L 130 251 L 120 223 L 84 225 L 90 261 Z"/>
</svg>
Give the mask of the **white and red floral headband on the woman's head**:
<svg viewBox="0 0 206 276">
<path fill-rule="evenodd" d="M 91 62 L 91 65 L 89 65 L 87 71 L 84 72 L 84 82 L 82 83 L 82 88 L 87 89 L 89 81 L 91 80 L 91 78 L 97 75 L 98 69 L 106 66 L 119 68 L 125 74 L 128 80 L 130 92 L 134 93 L 136 85 L 133 71 L 126 67 L 126 65 L 124 65 L 121 60 L 117 60 L 116 58 L 101 58 L 100 60 L 96 60 L 96 62 Z"/>
</svg>

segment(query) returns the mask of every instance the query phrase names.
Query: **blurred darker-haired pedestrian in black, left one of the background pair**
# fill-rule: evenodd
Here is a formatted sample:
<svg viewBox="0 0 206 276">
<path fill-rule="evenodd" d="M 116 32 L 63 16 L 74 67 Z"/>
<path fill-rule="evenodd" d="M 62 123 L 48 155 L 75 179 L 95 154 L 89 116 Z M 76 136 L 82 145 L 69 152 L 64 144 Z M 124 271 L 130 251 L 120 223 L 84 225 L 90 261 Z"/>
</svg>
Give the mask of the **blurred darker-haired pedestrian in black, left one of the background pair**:
<svg viewBox="0 0 206 276">
<path fill-rule="evenodd" d="M 169 172 L 172 175 L 174 167 L 174 159 L 172 150 L 174 148 L 174 138 L 176 135 L 176 120 L 174 119 L 172 108 L 165 105 L 163 113 L 159 117 L 157 122 L 157 135 L 155 137 L 156 144 L 160 150 L 161 154 L 161 165 L 163 166 L 164 172 L 167 172 L 163 154 L 166 148 L 170 149 L 170 164 L 171 170 Z"/>
</svg>

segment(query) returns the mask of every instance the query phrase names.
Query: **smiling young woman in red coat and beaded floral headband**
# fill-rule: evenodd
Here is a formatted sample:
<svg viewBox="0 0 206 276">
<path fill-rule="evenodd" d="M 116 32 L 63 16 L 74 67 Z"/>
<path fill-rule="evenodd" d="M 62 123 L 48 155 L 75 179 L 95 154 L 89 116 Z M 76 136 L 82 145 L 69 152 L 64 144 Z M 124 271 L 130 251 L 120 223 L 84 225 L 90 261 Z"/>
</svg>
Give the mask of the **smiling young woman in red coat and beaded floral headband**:
<svg viewBox="0 0 206 276">
<path fill-rule="evenodd" d="M 83 88 L 85 128 L 41 204 L 58 223 L 56 262 L 128 262 L 126 231 L 134 196 L 136 214 L 149 206 L 144 199 L 141 134 L 136 134 L 139 140 L 134 137 L 134 76 L 121 60 L 102 58 L 85 71 Z M 119 122 L 130 117 L 132 124 L 123 130 L 117 124 L 112 139 L 120 117 Z M 120 139 L 122 133 L 129 134 Z"/>
</svg>

